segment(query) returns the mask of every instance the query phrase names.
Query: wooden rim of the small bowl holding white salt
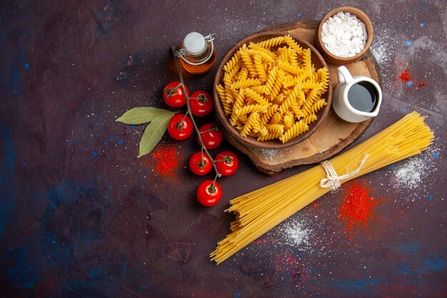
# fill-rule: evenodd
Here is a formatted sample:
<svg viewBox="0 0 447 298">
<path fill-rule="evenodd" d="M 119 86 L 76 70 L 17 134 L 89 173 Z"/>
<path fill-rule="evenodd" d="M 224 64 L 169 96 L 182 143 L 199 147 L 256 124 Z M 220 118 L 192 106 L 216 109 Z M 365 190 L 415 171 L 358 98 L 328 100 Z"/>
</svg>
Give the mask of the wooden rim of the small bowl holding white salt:
<svg viewBox="0 0 447 298">
<path fill-rule="evenodd" d="M 355 14 L 357 16 L 357 18 L 360 19 L 363 22 L 363 24 L 365 24 L 366 33 L 368 34 L 368 38 L 366 39 L 365 48 L 360 53 L 356 54 L 356 56 L 352 56 L 352 57 L 336 56 L 336 55 L 332 54 L 331 51 L 326 49 L 326 46 L 324 45 L 323 41 L 321 40 L 321 30 L 323 29 L 323 24 L 327 21 L 327 19 L 329 19 L 329 17 L 334 16 L 335 14 L 338 14 L 338 12 L 340 12 L 340 11 L 349 12 L 350 14 Z M 369 47 L 373 43 L 373 36 L 374 36 L 373 22 L 371 21 L 369 16 L 364 11 L 362 11 L 361 9 L 358 9 L 355 6 L 339 6 L 336 9 L 332 9 L 331 11 L 329 11 L 327 14 L 325 14 L 323 16 L 323 19 L 321 19 L 320 24 L 318 24 L 318 29 L 317 29 L 317 39 L 318 39 L 318 43 L 320 44 L 321 51 L 323 51 L 324 54 L 326 54 L 327 56 L 331 57 L 331 59 L 339 60 L 339 61 L 343 61 L 343 62 L 351 62 L 351 61 L 356 61 L 358 59 L 361 59 L 361 57 L 363 57 L 366 54 L 366 51 L 368 51 Z"/>
</svg>

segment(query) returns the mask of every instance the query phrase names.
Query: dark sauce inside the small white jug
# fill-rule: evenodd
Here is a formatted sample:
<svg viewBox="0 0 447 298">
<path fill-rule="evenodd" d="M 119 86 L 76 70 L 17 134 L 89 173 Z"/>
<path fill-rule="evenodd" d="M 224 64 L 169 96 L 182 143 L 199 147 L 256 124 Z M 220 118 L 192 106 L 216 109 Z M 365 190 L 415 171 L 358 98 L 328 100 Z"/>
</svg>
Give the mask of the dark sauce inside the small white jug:
<svg viewBox="0 0 447 298">
<path fill-rule="evenodd" d="M 359 81 L 353 84 L 348 91 L 348 101 L 358 111 L 367 113 L 373 111 L 377 104 L 376 87 L 368 81 Z"/>
</svg>

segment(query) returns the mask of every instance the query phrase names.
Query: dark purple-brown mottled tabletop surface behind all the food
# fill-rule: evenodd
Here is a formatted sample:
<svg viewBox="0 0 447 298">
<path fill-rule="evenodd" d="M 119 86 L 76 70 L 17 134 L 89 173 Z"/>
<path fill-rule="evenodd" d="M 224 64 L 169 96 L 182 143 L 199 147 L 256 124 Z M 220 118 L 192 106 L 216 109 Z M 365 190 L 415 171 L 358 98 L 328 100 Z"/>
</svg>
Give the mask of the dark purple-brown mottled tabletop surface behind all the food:
<svg viewBox="0 0 447 298">
<path fill-rule="evenodd" d="M 253 31 L 343 4 L 3 1 L 0 297 L 447 297 L 445 1 L 348 2 L 373 21 L 384 92 L 356 144 L 413 110 L 436 134 L 421 156 L 360 179 L 381 200 L 351 232 L 338 219 L 343 188 L 217 267 L 208 255 L 228 233 L 227 202 L 307 167 L 267 177 L 240 154 L 206 209 L 194 198 L 203 178 L 186 169 L 194 139 L 165 136 L 136 159 L 144 126 L 114 122 L 164 107 L 177 79 L 169 48 L 189 31 L 216 32 L 219 63 Z M 213 77 L 186 80 L 211 91 Z M 173 171 L 161 152 L 174 152 Z"/>
</svg>

